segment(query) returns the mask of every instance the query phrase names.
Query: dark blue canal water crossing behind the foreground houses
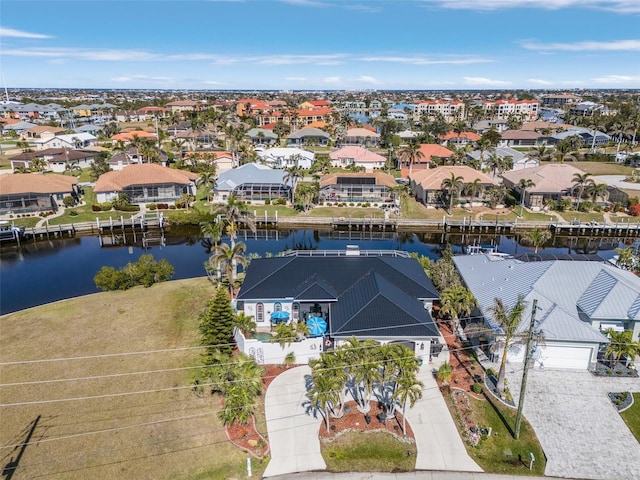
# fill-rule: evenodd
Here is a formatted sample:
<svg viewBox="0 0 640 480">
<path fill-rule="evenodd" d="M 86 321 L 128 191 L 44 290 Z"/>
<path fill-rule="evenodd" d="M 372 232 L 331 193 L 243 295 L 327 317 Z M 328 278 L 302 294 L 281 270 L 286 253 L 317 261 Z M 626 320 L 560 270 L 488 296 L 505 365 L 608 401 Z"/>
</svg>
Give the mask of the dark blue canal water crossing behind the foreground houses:
<svg viewBox="0 0 640 480">
<path fill-rule="evenodd" d="M 109 238 L 103 238 L 108 240 Z M 225 239 L 223 239 L 224 241 Z M 331 230 L 258 230 L 242 232 L 240 241 L 247 253 L 278 254 L 287 250 L 344 250 L 358 245 L 361 250 L 405 250 L 437 259 L 444 245 L 450 243 L 455 253 L 465 245 L 496 245 L 503 253 L 532 252 L 513 237 L 450 236 L 396 232 L 349 232 Z M 165 233 L 164 245 L 143 248 L 138 236 L 127 237 L 119 246 L 101 246 L 97 236 L 39 240 L 20 247 L 0 246 L 0 314 L 45 303 L 96 293 L 93 277 L 103 266 L 121 268 L 137 261 L 140 255 L 152 254 L 166 259 L 175 269 L 174 279 L 205 276 L 204 263 L 209 258 L 198 229 L 171 229 Z M 106 243 L 106 242 L 103 242 Z M 559 239 L 540 252 L 598 253 L 611 258 L 620 244 L 611 239 Z"/>
</svg>

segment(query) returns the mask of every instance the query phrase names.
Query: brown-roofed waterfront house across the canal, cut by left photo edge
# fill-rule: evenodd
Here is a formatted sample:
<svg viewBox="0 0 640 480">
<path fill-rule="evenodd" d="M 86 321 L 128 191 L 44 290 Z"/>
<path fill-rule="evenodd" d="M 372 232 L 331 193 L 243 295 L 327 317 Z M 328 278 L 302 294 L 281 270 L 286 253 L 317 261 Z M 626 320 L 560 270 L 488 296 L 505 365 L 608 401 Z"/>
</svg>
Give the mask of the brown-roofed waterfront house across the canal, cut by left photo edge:
<svg viewBox="0 0 640 480">
<path fill-rule="evenodd" d="M 0 175 L 0 215 L 57 211 L 65 197 L 78 200 L 78 179 L 70 175 Z"/>
</svg>

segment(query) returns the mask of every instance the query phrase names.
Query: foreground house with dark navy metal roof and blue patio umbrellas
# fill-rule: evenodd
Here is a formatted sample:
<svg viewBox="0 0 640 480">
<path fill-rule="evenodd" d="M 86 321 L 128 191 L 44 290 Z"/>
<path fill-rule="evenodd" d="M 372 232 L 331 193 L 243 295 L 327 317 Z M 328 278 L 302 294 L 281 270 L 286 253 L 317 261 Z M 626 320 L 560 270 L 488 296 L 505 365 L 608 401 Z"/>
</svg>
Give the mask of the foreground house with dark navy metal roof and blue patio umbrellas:
<svg viewBox="0 0 640 480">
<path fill-rule="evenodd" d="M 255 259 L 236 302 L 238 311 L 267 329 L 279 321 L 321 318 L 323 347 L 355 337 L 402 343 L 428 356 L 431 345 L 437 350 L 440 343 L 430 313 L 438 298 L 424 269 L 406 252 L 352 249 Z"/>
</svg>

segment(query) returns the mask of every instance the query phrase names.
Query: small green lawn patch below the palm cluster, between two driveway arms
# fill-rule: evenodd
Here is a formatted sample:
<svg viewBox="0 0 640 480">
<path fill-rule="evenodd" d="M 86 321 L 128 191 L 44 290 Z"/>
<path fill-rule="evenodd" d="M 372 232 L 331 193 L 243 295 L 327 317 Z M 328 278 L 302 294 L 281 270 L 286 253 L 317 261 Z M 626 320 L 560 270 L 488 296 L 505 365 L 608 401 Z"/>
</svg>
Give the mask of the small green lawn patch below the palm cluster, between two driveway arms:
<svg viewBox="0 0 640 480">
<path fill-rule="evenodd" d="M 350 432 L 320 443 L 330 472 L 404 472 L 416 464 L 416 446 L 383 432 Z"/>
</svg>

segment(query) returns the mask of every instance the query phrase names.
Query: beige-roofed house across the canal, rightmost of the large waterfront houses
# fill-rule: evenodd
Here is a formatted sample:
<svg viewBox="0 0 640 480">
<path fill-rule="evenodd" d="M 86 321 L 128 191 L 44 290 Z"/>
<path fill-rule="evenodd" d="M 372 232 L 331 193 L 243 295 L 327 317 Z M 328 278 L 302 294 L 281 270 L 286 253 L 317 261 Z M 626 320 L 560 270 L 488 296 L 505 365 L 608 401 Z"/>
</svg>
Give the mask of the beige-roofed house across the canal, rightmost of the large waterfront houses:
<svg viewBox="0 0 640 480">
<path fill-rule="evenodd" d="M 535 168 L 514 170 L 502 174 L 505 187 L 518 191 L 521 179 L 528 179 L 535 183 L 524 192 L 524 206 L 535 211 L 545 208 L 545 200 L 559 202 L 564 197 L 571 197 L 576 174 L 584 172 L 567 163 L 550 163 Z"/>
</svg>

